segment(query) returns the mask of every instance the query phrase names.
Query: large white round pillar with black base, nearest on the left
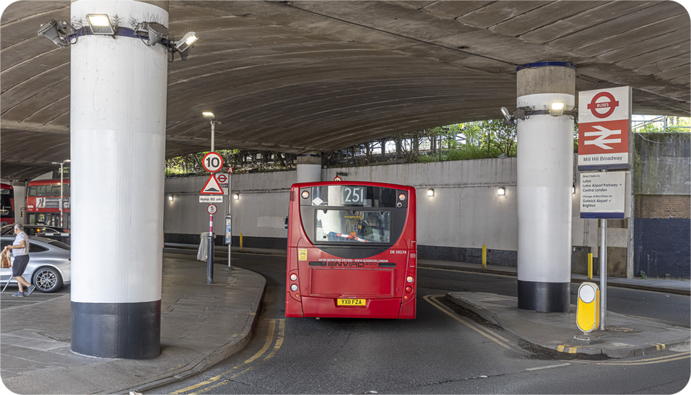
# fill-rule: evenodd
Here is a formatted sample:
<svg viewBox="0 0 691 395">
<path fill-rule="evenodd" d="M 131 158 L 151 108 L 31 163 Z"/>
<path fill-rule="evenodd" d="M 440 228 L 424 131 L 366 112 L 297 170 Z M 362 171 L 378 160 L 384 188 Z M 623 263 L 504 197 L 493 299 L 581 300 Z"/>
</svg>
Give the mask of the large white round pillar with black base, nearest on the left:
<svg viewBox="0 0 691 395">
<path fill-rule="evenodd" d="M 168 24 L 168 0 L 73 0 L 72 19 Z M 88 26 L 88 25 L 87 25 Z M 72 350 L 160 354 L 167 53 L 86 35 L 71 48 Z"/>
</svg>

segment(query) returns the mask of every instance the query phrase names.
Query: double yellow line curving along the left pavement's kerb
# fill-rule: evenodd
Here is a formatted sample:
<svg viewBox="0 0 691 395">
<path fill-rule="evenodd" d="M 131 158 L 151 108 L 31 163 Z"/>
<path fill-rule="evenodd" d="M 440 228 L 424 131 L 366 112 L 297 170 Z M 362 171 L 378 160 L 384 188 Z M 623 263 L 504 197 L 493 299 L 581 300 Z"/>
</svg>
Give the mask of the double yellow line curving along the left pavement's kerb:
<svg viewBox="0 0 691 395">
<path fill-rule="evenodd" d="M 278 323 L 278 336 L 276 337 L 276 343 L 274 344 L 274 335 L 276 334 L 276 323 Z M 218 376 L 214 376 L 209 378 L 206 381 L 202 381 L 202 383 L 198 383 L 195 385 L 190 385 L 189 387 L 185 387 L 183 389 L 178 389 L 178 391 L 171 392 L 169 395 L 180 395 L 180 394 L 185 394 L 185 395 L 198 395 L 198 394 L 203 394 L 204 392 L 210 391 L 211 389 L 222 387 L 223 385 L 227 385 L 229 383 L 232 383 L 233 380 L 250 370 L 254 369 L 255 365 L 248 366 L 251 363 L 253 363 L 255 360 L 258 360 L 266 354 L 266 351 L 269 350 L 269 347 L 271 347 L 272 344 L 274 344 L 274 349 L 269 352 L 267 356 L 261 360 L 261 362 L 264 362 L 266 360 L 269 360 L 273 358 L 276 355 L 276 352 L 281 349 L 281 345 L 283 345 L 283 338 L 285 336 L 285 319 L 279 319 L 279 320 L 269 320 L 269 333 L 266 335 L 266 340 L 264 342 L 264 346 L 257 351 L 252 358 L 249 358 L 245 360 L 245 362 L 240 363 L 240 365 L 237 365 L 233 367 L 232 369 L 227 370 L 226 372 L 223 372 L 219 374 Z M 243 369 L 244 368 L 244 369 Z M 232 374 L 232 376 L 225 378 L 225 376 L 228 376 L 229 374 Z M 224 380 L 221 380 L 221 378 L 225 378 Z M 221 381 L 219 381 L 221 380 Z M 196 391 L 195 391 L 196 390 Z M 194 391 L 194 392 L 190 392 Z"/>
</svg>

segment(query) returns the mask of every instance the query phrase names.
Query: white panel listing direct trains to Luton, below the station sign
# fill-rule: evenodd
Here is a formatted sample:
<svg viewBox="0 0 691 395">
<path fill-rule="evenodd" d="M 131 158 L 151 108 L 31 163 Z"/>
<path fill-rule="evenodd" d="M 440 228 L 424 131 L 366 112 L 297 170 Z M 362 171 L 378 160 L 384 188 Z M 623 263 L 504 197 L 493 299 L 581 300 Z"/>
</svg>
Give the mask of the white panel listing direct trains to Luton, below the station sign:
<svg viewBox="0 0 691 395">
<path fill-rule="evenodd" d="M 580 173 L 580 218 L 624 219 L 626 172 Z"/>
</svg>

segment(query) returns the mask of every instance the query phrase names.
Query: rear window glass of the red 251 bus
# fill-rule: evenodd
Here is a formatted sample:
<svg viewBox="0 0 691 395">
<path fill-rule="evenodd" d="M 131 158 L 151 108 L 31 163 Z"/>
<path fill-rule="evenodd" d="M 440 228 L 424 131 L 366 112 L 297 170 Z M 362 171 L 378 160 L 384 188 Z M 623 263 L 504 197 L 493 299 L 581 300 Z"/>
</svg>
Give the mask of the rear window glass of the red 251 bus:
<svg viewBox="0 0 691 395">
<path fill-rule="evenodd" d="M 315 242 L 391 242 L 391 212 L 316 210 Z"/>
</svg>

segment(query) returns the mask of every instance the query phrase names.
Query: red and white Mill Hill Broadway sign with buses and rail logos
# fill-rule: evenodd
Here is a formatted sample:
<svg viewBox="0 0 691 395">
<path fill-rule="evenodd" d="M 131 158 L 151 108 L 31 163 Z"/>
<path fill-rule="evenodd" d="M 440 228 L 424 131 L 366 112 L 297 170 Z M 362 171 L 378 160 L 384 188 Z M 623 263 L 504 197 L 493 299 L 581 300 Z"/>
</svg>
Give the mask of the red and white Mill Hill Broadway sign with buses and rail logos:
<svg viewBox="0 0 691 395">
<path fill-rule="evenodd" d="M 631 88 L 578 93 L 578 170 L 629 168 Z"/>
</svg>

